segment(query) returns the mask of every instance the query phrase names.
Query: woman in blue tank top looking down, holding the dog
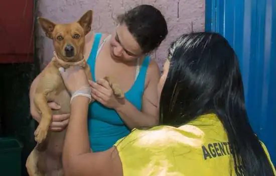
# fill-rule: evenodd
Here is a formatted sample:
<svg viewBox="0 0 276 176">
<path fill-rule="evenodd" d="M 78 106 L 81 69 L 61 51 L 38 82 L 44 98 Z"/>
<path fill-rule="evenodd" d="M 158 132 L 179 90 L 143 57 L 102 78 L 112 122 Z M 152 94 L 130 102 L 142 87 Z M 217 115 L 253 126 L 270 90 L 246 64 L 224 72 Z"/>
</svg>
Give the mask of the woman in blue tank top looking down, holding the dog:
<svg viewBox="0 0 276 176">
<path fill-rule="evenodd" d="M 168 34 L 166 21 L 159 10 L 150 5 L 137 6 L 118 16 L 118 26 L 111 35 L 93 33 L 86 36 L 84 57 L 93 80 L 89 82 L 95 100 L 89 105 L 88 131 L 92 151 L 104 151 L 133 128 L 158 124 L 157 83 L 160 70 L 147 54 L 157 49 Z M 108 82 L 111 75 L 124 92 L 124 98 L 113 95 Z M 40 115 L 33 104 L 30 90 L 31 114 L 38 122 Z M 59 109 L 55 102 L 48 104 Z M 53 115 L 51 130 L 62 131 L 70 114 Z"/>
</svg>

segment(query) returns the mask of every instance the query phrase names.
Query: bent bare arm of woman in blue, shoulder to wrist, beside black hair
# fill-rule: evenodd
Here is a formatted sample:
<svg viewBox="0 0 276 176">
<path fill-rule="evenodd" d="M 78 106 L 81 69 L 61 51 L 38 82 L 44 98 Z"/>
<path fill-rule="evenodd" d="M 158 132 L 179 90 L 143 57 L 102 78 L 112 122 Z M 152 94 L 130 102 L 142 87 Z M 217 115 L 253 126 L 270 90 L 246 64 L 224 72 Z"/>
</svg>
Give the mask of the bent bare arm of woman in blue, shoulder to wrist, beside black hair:
<svg viewBox="0 0 276 176">
<path fill-rule="evenodd" d="M 131 103 L 125 103 L 115 108 L 128 128 L 151 127 L 158 124 L 158 93 L 157 84 L 160 79 L 160 70 L 157 63 L 151 60 L 147 71 L 148 83 L 142 101 L 142 112 Z M 147 80 L 146 79 L 146 80 Z"/>
</svg>

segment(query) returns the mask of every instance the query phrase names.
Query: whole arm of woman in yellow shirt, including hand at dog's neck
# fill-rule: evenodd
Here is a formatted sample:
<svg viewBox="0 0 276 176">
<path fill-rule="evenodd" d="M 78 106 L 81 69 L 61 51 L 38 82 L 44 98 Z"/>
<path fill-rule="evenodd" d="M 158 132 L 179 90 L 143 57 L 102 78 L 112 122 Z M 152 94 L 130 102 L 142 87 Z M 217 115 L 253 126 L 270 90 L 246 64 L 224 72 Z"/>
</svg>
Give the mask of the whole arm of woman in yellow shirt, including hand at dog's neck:
<svg viewBox="0 0 276 176">
<path fill-rule="evenodd" d="M 72 95 L 70 122 L 62 154 L 65 175 L 122 176 L 122 166 L 115 148 L 98 153 L 90 151 L 87 111 L 91 89 L 84 70 L 79 66 L 71 66 L 66 71 L 61 67 L 59 70 L 67 91 Z"/>
</svg>

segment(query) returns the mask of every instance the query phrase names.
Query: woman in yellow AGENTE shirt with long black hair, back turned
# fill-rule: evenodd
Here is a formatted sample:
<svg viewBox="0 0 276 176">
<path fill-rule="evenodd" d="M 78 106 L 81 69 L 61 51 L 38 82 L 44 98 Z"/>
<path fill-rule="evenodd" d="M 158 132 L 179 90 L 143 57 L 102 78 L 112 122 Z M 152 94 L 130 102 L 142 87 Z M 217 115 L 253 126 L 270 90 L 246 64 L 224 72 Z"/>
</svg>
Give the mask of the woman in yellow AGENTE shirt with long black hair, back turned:
<svg viewBox="0 0 276 176">
<path fill-rule="evenodd" d="M 89 85 L 82 69 L 60 71 L 71 94 Z M 238 59 L 221 35 L 192 33 L 173 42 L 158 93 L 162 125 L 134 129 L 102 152 L 89 147 L 89 98 L 74 97 L 63 150 L 65 174 L 275 175 L 248 122 Z"/>
</svg>

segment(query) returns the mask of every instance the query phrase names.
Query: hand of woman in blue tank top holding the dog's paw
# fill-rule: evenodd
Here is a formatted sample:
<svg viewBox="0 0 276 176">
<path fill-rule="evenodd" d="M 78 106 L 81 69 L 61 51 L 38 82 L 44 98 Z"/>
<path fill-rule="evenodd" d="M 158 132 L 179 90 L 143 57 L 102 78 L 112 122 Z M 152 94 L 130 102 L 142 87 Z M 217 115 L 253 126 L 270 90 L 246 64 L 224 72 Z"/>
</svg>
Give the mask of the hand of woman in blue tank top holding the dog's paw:
<svg viewBox="0 0 276 176">
<path fill-rule="evenodd" d="M 105 79 L 99 79 L 97 82 L 89 80 L 91 85 L 91 96 L 93 99 L 101 103 L 103 106 L 111 109 L 116 109 L 123 105 L 124 99 L 117 98 L 109 83 Z"/>
</svg>

